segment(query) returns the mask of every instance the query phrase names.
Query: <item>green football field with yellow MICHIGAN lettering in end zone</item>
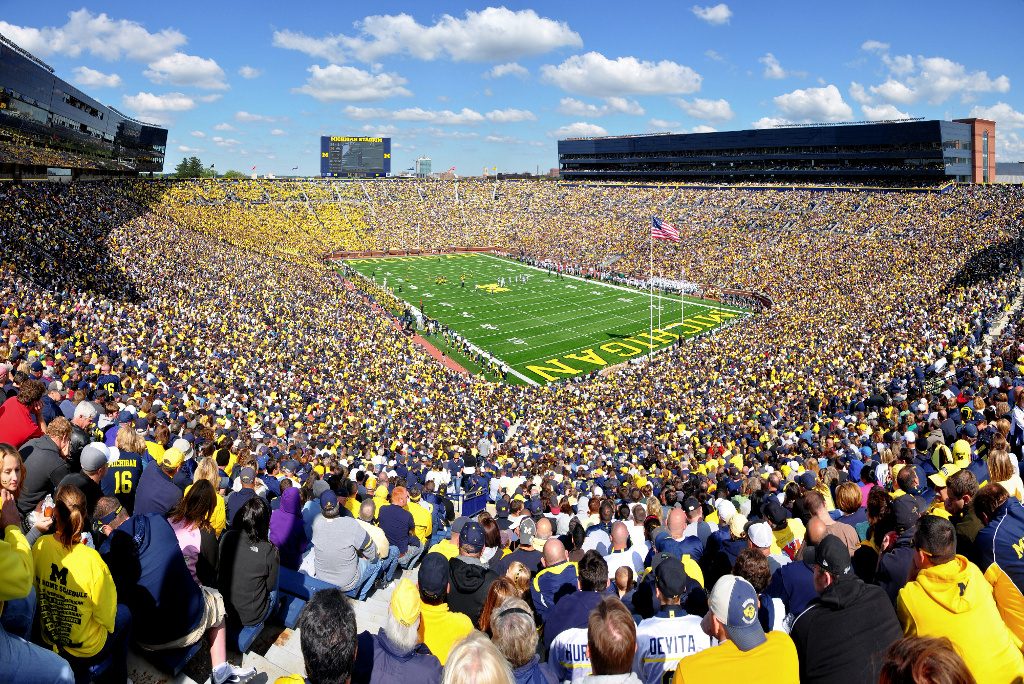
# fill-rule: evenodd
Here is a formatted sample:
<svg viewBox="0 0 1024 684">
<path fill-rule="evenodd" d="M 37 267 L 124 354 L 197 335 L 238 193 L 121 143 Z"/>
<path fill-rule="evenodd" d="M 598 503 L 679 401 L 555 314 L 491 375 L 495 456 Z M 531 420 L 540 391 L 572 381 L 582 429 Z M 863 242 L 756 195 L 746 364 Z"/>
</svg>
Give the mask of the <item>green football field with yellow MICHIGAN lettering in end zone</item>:
<svg viewBox="0 0 1024 684">
<path fill-rule="evenodd" d="M 687 297 L 683 320 L 678 296 L 656 296 L 651 332 L 646 291 L 559 277 L 487 254 L 345 263 L 379 285 L 386 281 L 398 299 L 456 331 L 529 384 L 622 364 L 749 315 L 739 307 Z M 442 277 L 447 282 L 439 284 Z"/>
</svg>

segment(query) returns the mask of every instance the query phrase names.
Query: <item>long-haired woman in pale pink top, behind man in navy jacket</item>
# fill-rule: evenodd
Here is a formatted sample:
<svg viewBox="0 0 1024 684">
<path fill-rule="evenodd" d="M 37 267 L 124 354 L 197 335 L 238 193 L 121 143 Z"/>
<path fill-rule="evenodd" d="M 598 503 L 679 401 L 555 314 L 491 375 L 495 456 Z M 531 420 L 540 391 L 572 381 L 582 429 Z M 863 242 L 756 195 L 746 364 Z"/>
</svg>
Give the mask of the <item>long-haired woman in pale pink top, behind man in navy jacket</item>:
<svg viewBox="0 0 1024 684">
<path fill-rule="evenodd" d="M 206 587 L 217 586 L 217 537 L 210 523 L 216 507 L 217 493 L 201 479 L 167 513 L 193 580 Z"/>
</svg>

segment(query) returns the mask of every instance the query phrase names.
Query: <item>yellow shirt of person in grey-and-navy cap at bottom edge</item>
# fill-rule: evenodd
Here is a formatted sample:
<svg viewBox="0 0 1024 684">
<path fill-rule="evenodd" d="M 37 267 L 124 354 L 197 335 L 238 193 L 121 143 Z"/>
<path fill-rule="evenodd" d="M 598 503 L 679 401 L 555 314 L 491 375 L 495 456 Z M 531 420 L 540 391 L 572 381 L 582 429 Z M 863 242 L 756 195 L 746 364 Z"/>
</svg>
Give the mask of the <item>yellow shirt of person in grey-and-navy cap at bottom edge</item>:
<svg viewBox="0 0 1024 684">
<path fill-rule="evenodd" d="M 673 684 L 684 682 L 758 682 L 799 684 L 800 660 L 793 639 L 784 632 L 769 632 L 768 640 L 749 651 L 731 641 L 706 648 L 679 661 Z"/>
</svg>

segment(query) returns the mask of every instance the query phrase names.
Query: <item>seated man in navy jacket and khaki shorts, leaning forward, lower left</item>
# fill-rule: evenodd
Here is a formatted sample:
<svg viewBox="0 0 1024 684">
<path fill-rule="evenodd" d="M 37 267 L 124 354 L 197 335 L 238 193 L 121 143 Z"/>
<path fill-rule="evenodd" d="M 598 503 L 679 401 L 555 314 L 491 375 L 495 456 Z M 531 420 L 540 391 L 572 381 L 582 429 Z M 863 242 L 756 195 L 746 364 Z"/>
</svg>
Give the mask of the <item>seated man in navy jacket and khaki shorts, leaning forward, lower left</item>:
<svg viewBox="0 0 1024 684">
<path fill-rule="evenodd" d="M 213 684 L 255 674 L 227 661 L 224 599 L 193 580 L 174 530 L 163 516 L 129 518 L 117 499 L 103 497 L 96 504 L 95 518 L 108 536 L 100 555 L 111 568 L 118 601 L 131 610 L 132 637 L 142 648 L 184 648 L 209 637 Z"/>
</svg>

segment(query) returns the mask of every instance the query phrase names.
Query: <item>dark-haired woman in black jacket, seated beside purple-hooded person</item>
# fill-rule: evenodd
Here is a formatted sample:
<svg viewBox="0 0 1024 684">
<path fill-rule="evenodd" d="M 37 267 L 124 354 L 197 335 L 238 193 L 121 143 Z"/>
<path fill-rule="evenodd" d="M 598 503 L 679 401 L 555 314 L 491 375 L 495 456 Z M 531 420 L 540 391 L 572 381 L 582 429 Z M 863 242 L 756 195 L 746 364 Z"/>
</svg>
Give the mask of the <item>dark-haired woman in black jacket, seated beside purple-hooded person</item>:
<svg viewBox="0 0 1024 684">
<path fill-rule="evenodd" d="M 239 528 L 220 538 L 218 585 L 227 614 L 242 627 L 239 641 L 257 629 L 278 603 L 278 570 L 281 557 L 268 539 L 270 506 L 262 497 L 253 497 L 239 511 Z"/>
</svg>

